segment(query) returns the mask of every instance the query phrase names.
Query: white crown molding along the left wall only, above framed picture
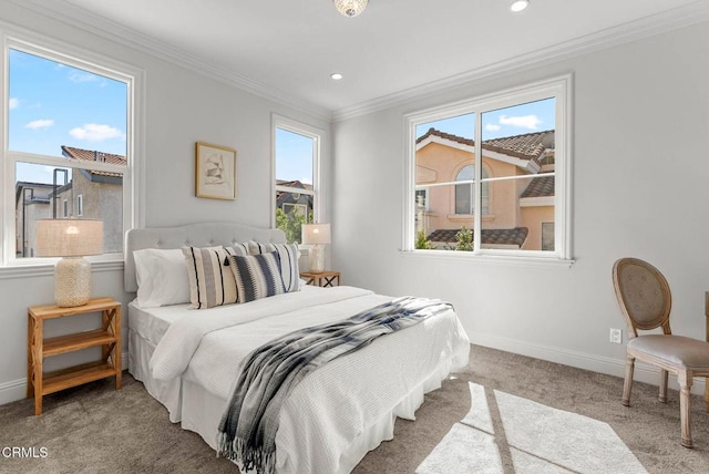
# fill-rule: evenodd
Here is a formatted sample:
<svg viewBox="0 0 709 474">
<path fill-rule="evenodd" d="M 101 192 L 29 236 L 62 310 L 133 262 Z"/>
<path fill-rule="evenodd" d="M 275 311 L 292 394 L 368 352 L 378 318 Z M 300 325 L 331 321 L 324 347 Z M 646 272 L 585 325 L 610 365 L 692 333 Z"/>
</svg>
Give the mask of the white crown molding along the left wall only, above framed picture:
<svg viewBox="0 0 709 474">
<path fill-rule="evenodd" d="M 254 81 L 238 74 L 235 71 L 204 61 L 184 50 L 172 47 L 163 41 L 157 41 L 152 37 L 123 27 L 114 21 L 106 20 L 103 17 L 86 11 L 64 0 L 9 1 L 16 3 L 18 7 L 32 10 L 53 20 L 79 28 L 133 50 L 152 56 L 157 56 L 161 60 L 168 61 L 198 74 L 233 85 L 259 97 L 280 103 L 281 105 L 298 110 L 317 118 L 326 121 L 330 121 L 331 118 L 331 111 L 328 109 L 314 105 L 310 102 L 294 97 L 291 94 L 267 86 L 258 81 Z"/>
</svg>

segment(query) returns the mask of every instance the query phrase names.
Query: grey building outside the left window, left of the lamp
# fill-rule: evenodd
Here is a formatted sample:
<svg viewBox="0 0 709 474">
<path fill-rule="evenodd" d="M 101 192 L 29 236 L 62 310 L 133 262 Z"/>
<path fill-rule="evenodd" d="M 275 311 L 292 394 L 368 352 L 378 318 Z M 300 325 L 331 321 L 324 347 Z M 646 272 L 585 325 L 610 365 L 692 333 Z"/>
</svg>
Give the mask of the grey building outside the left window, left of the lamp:
<svg viewBox="0 0 709 474">
<path fill-rule="evenodd" d="M 14 185 L 17 257 L 34 257 L 34 223 L 51 216 L 52 189 L 53 186 L 47 183 L 18 182 Z"/>
</svg>

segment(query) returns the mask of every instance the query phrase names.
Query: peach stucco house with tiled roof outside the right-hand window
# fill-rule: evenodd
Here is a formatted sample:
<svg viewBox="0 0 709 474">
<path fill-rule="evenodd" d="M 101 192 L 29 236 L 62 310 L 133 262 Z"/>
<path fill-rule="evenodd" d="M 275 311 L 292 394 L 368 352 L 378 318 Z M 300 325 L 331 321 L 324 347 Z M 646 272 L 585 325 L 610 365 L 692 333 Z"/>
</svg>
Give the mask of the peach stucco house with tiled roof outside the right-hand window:
<svg viewBox="0 0 709 474">
<path fill-rule="evenodd" d="M 482 143 L 482 177 L 530 176 L 482 183 L 482 245 L 487 248 L 554 249 L 554 131 Z M 544 143 L 543 143 L 544 142 Z M 548 143 L 547 143 L 548 142 Z M 438 247 L 473 228 L 474 141 L 430 128 L 417 140 L 417 231 Z M 542 174 L 542 176 L 534 177 Z M 450 185 L 430 186 L 436 183 Z M 429 185 L 429 186 L 425 186 Z"/>
</svg>

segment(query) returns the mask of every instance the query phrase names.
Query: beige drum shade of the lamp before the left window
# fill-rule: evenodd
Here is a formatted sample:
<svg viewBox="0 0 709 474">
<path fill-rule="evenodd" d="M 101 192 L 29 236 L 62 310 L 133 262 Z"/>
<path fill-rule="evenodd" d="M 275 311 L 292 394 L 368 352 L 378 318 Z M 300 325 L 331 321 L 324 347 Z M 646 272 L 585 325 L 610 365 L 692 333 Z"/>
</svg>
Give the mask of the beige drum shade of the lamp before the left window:
<svg viewBox="0 0 709 474">
<path fill-rule="evenodd" d="M 82 257 L 103 254 L 103 221 L 39 219 L 35 251 L 39 257 Z"/>
</svg>

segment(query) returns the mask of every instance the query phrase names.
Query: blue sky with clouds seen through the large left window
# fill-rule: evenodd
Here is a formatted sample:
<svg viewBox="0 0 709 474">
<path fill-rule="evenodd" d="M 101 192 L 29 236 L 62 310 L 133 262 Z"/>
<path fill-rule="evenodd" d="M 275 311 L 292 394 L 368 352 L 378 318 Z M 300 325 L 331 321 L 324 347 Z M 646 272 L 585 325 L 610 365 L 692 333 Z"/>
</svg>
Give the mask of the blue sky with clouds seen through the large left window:
<svg viewBox="0 0 709 474">
<path fill-rule="evenodd" d="M 61 156 L 61 146 L 126 154 L 127 85 L 10 50 L 9 148 Z M 51 182 L 44 166 L 18 165 L 18 181 Z"/>
</svg>

